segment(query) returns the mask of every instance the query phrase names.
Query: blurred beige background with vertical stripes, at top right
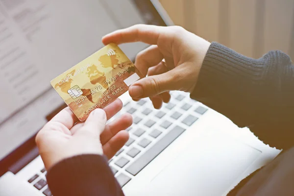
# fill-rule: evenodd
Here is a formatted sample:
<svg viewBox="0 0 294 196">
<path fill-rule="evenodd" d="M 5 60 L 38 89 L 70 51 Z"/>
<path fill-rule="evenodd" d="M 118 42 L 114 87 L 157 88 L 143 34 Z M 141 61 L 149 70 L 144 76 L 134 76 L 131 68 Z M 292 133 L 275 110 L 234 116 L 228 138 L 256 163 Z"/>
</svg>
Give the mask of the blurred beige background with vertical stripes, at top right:
<svg viewBox="0 0 294 196">
<path fill-rule="evenodd" d="M 259 58 L 279 49 L 294 59 L 294 0 L 160 0 L 175 25 Z"/>
</svg>

